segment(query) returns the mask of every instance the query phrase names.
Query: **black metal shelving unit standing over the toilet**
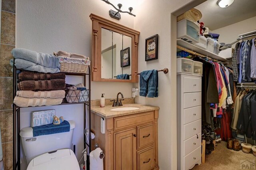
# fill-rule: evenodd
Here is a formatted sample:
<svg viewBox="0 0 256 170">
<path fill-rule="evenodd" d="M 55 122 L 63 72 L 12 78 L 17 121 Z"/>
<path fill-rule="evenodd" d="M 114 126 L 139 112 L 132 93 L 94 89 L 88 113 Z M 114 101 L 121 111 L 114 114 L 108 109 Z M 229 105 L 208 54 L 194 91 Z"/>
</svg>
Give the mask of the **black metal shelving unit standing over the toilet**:
<svg viewBox="0 0 256 170">
<path fill-rule="evenodd" d="M 15 63 L 15 59 L 13 61 Z M 16 69 L 15 65 L 13 67 L 13 99 L 16 96 L 16 92 L 18 90 L 18 73 L 16 73 L 17 70 L 20 71 L 27 71 L 23 69 Z M 91 74 L 90 74 L 90 66 L 88 67 L 88 73 L 68 73 L 68 72 L 61 72 L 65 73 L 65 75 L 74 75 L 74 76 L 83 76 L 84 77 L 84 86 L 88 85 L 88 101 L 84 102 L 76 102 L 76 103 L 64 103 L 62 102 L 60 105 L 72 105 L 72 104 L 84 104 L 84 129 L 86 128 L 86 111 L 88 111 L 88 119 L 89 119 L 89 126 L 88 126 L 88 142 L 86 142 L 86 134 L 84 133 L 84 148 L 88 146 L 89 152 L 91 152 Z M 57 106 L 57 105 L 56 105 Z M 44 106 L 38 106 L 38 107 L 44 107 Z M 14 103 L 12 104 L 12 110 L 13 110 L 13 169 L 20 170 L 20 108 Z M 87 169 L 89 170 L 89 160 L 87 156 Z"/>
</svg>

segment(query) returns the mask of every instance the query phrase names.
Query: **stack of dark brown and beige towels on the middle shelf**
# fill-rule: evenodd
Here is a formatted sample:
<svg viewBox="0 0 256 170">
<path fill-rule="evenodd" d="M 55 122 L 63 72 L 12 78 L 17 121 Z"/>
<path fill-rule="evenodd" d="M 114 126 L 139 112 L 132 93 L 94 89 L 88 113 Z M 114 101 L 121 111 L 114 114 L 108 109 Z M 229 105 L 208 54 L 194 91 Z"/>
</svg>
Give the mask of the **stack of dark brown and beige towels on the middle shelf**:
<svg viewBox="0 0 256 170">
<path fill-rule="evenodd" d="M 59 105 L 65 98 L 65 73 L 22 71 L 13 103 L 19 107 Z"/>
</svg>

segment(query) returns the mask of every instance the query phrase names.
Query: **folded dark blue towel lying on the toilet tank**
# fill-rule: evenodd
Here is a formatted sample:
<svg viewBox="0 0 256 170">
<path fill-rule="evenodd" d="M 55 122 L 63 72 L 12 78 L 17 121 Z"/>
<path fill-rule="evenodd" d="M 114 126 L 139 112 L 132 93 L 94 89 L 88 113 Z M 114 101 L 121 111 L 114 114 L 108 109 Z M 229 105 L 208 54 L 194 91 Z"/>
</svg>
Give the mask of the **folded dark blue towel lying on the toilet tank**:
<svg viewBox="0 0 256 170">
<path fill-rule="evenodd" d="M 70 124 L 68 121 L 62 122 L 60 125 L 41 125 L 37 127 L 33 127 L 33 136 L 40 136 L 40 135 L 47 135 L 47 134 L 54 134 L 54 133 L 62 133 L 62 132 L 69 132 L 70 131 Z"/>
</svg>

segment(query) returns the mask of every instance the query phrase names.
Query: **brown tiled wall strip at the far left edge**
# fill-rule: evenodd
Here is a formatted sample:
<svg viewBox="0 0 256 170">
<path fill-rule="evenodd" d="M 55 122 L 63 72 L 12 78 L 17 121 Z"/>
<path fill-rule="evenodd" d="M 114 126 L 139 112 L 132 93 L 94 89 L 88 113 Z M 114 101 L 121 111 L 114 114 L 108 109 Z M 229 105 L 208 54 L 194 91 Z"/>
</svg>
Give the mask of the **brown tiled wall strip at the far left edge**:
<svg viewBox="0 0 256 170">
<path fill-rule="evenodd" d="M 12 170 L 12 72 L 10 51 L 15 47 L 15 0 L 2 0 L 0 37 L 0 128 L 4 169 Z"/>
</svg>

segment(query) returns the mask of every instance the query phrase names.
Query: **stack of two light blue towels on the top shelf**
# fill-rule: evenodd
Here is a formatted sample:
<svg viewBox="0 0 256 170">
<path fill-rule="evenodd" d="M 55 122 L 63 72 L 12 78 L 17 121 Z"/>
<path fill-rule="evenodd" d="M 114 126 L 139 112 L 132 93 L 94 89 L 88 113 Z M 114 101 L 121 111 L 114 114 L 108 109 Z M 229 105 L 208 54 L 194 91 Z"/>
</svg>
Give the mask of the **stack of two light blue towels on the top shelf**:
<svg viewBox="0 0 256 170">
<path fill-rule="evenodd" d="M 60 72 L 60 62 L 55 55 L 37 53 L 36 51 L 23 48 L 12 49 L 12 55 L 15 58 L 14 65 L 17 69 L 40 73 Z M 13 67 L 13 59 L 10 60 L 10 65 Z"/>
</svg>

